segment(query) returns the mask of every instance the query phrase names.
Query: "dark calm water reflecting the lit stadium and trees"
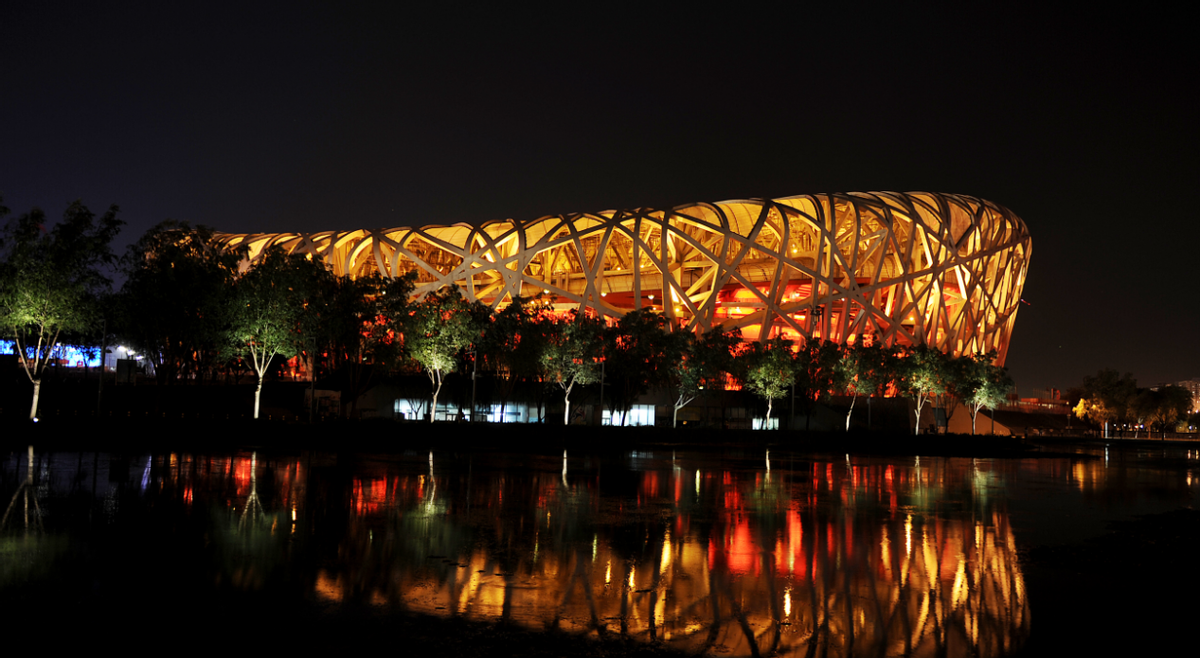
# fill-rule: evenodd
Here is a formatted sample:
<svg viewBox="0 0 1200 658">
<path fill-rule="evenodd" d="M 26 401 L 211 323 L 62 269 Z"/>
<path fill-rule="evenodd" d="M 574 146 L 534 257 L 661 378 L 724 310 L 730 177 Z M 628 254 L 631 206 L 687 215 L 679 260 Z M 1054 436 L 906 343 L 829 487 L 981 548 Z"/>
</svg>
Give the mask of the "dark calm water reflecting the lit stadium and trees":
<svg viewBox="0 0 1200 658">
<path fill-rule="evenodd" d="M 31 478 L 20 451 L 0 462 L 0 600 L 416 612 L 720 656 L 1003 656 L 1061 626 L 1030 546 L 1195 502 L 1186 449 L 1079 451 L 38 453 Z"/>
</svg>

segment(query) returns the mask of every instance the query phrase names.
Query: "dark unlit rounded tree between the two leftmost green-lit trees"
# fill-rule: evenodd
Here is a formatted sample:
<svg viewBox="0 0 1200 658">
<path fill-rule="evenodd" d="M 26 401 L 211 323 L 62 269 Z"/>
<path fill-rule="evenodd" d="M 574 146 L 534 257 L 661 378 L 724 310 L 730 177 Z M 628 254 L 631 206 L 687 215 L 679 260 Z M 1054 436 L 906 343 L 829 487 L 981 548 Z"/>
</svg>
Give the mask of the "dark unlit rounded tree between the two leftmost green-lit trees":
<svg viewBox="0 0 1200 658">
<path fill-rule="evenodd" d="M 241 253 L 212 246 L 212 229 L 167 220 L 130 245 L 114 329 L 158 381 L 200 379 L 217 363 Z"/>
</svg>

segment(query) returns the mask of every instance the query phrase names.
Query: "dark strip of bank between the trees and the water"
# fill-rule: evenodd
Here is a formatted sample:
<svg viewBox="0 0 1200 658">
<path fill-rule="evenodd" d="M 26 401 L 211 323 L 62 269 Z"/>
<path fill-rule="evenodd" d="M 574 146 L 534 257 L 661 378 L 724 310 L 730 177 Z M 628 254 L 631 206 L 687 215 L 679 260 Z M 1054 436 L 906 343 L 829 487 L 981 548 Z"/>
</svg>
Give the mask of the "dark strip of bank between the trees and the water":
<svg viewBox="0 0 1200 658">
<path fill-rule="evenodd" d="M 1198 436 L 1196 443 L 1200 443 Z M 1099 439 L 1094 437 L 1010 437 L 991 435 L 920 435 L 896 432 L 805 432 L 703 430 L 670 427 L 594 427 L 586 425 L 514 425 L 461 423 L 330 421 L 186 421 L 186 420 L 46 420 L 10 424 L 0 449 L 28 444 L 52 450 L 212 450 L 268 449 L 336 453 L 402 453 L 454 449 L 554 454 L 563 449 L 725 450 L 772 449 L 792 453 L 852 455 L 920 455 L 980 459 L 1072 456 L 1088 459 L 1079 447 L 1192 445 L 1193 442 Z"/>
</svg>

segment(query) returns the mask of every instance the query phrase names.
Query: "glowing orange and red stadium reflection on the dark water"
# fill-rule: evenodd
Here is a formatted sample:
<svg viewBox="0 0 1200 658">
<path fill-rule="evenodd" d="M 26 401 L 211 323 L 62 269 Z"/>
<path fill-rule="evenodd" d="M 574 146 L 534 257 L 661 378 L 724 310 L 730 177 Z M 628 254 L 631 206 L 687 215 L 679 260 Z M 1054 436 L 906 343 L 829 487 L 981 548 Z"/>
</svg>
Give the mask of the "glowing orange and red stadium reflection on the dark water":
<svg viewBox="0 0 1200 658">
<path fill-rule="evenodd" d="M 376 600 L 743 656 L 998 656 L 1028 633 L 968 460 L 551 473 L 439 477 L 442 500 L 432 475 L 356 480 L 358 522 L 390 519 Z"/>
</svg>

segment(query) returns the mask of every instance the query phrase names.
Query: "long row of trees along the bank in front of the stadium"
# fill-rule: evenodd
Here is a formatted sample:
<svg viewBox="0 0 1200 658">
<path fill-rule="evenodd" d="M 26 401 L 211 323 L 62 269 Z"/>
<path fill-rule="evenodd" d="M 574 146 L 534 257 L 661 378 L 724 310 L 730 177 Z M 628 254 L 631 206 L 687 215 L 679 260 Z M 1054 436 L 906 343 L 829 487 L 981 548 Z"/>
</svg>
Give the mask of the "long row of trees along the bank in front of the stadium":
<svg viewBox="0 0 1200 658">
<path fill-rule="evenodd" d="M 743 388 L 766 402 L 768 420 L 785 395 L 805 414 L 846 395 L 847 430 L 860 397 L 869 406 L 882 395 L 908 396 L 918 421 L 926 405 L 961 403 L 973 424 L 1013 385 L 995 353 L 950 357 L 920 345 L 886 347 L 870 335 L 851 345 L 743 342 L 738 330 L 672 331 L 644 310 L 608 322 L 556 312 L 540 297 L 493 311 L 455 287 L 415 300 L 412 276 L 340 277 L 282 251 L 242 271 L 244 253 L 212 249 L 211 229 L 186 222 L 151 228 L 118 257 L 116 213 L 96 217 L 76 203 L 47 231 L 35 209 L 0 235 L 0 324 L 34 384 L 30 418 L 61 345 L 127 347 L 163 387 L 253 381 L 256 418 L 264 382 L 281 369 L 305 372 L 310 385 L 335 382 L 348 417 L 364 391 L 402 375 L 424 373 L 437 408 L 446 377 L 467 372 L 490 382 L 502 413 L 518 391 L 539 390 L 560 400 L 564 423 L 577 393 L 604 379 L 600 396 L 614 419 L 652 391 L 670 397 L 674 423 L 703 391 Z M 124 285 L 113 289 L 118 274 Z"/>
</svg>

